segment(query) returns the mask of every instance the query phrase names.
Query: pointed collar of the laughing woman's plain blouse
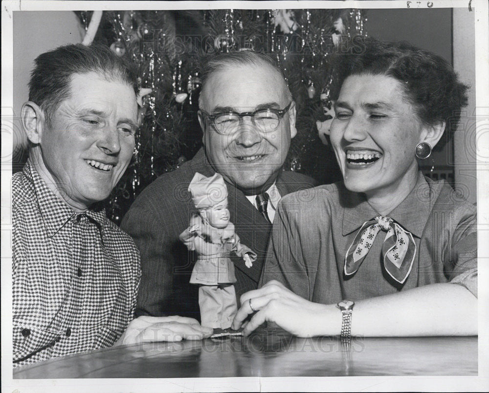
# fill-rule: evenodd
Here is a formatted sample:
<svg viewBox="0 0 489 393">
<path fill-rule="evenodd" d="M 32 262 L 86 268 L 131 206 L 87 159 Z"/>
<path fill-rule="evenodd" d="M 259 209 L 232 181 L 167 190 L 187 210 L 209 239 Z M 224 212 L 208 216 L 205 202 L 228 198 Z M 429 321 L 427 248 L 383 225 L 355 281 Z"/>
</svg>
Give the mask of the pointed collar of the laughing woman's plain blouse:
<svg viewBox="0 0 489 393">
<path fill-rule="evenodd" d="M 344 187 L 344 184 L 342 184 Z M 346 190 L 346 188 L 345 188 Z M 347 198 L 343 213 L 343 235 L 358 230 L 364 222 L 372 220 L 378 212 L 369 205 L 363 194 L 346 190 Z M 413 214 L 413 211 L 416 214 Z M 429 185 L 421 171 L 416 185 L 406 198 L 387 215 L 399 223 L 406 231 L 421 237 L 431 210 Z"/>
</svg>

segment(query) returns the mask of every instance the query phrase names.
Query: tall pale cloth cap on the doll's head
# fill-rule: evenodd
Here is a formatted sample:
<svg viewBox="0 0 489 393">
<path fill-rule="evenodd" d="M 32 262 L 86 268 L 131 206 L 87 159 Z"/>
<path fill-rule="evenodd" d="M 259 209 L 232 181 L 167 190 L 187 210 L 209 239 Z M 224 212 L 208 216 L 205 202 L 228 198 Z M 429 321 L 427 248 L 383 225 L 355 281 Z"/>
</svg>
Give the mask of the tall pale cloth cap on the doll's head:
<svg viewBox="0 0 489 393">
<path fill-rule="evenodd" d="M 205 177 L 197 172 L 188 186 L 192 201 L 198 209 L 205 209 L 227 198 L 227 187 L 219 173 Z"/>
</svg>

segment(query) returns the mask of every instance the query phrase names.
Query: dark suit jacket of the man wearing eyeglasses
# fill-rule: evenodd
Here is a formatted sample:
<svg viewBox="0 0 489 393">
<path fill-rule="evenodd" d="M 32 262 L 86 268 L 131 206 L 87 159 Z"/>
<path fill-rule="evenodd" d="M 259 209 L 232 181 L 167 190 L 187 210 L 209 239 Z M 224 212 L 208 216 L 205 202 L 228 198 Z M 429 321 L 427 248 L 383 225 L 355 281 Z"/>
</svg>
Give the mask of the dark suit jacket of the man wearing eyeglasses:
<svg viewBox="0 0 489 393">
<path fill-rule="evenodd" d="M 212 176 L 215 171 L 203 149 L 173 172 L 158 177 L 136 198 L 122 220 L 121 228 L 129 233 L 141 253 L 141 283 L 135 316 L 181 315 L 200 319 L 198 286 L 189 283 L 195 253 L 189 253 L 178 235 L 188 227 L 193 206 L 188 185 L 194 174 Z M 257 254 L 253 267 L 232 255 L 239 297 L 256 289 L 267 251 L 271 225 L 234 185 L 226 184 L 231 222 L 242 244 Z M 310 188 L 315 182 L 302 174 L 281 172 L 276 182 L 281 196 Z"/>
</svg>

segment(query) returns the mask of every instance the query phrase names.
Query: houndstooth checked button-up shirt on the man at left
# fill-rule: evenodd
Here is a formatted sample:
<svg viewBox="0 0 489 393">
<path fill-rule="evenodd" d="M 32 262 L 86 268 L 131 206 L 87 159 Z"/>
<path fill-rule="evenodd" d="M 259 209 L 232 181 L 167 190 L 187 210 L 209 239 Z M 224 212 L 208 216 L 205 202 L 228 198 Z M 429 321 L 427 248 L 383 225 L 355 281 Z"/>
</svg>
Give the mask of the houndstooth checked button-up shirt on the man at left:
<svg viewBox="0 0 489 393">
<path fill-rule="evenodd" d="M 75 213 L 28 161 L 12 180 L 14 366 L 110 347 L 133 319 L 132 239 L 102 210 Z"/>
</svg>

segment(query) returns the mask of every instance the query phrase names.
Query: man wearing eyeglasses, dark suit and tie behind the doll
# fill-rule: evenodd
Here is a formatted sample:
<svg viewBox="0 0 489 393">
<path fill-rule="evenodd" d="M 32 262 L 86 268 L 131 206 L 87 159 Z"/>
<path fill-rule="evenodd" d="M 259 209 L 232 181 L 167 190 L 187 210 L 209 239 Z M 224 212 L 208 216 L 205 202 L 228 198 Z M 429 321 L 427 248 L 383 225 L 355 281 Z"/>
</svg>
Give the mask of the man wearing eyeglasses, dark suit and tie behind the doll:
<svg viewBox="0 0 489 393">
<path fill-rule="evenodd" d="M 149 185 L 122 222 L 141 253 L 136 316 L 199 318 L 198 288 L 189 284 L 195 255 L 178 240 L 195 211 L 187 189 L 196 172 L 222 175 L 230 221 L 257 254 L 250 269 L 232 258 L 238 299 L 258 287 L 280 198 L 315 185 L 307 176 L 282 170 L 297 133 L 296 109 L 281 70 L 267 56 L 246 50 L 208 61 L 199 108 L 203 148 Z"/>
</svg>

